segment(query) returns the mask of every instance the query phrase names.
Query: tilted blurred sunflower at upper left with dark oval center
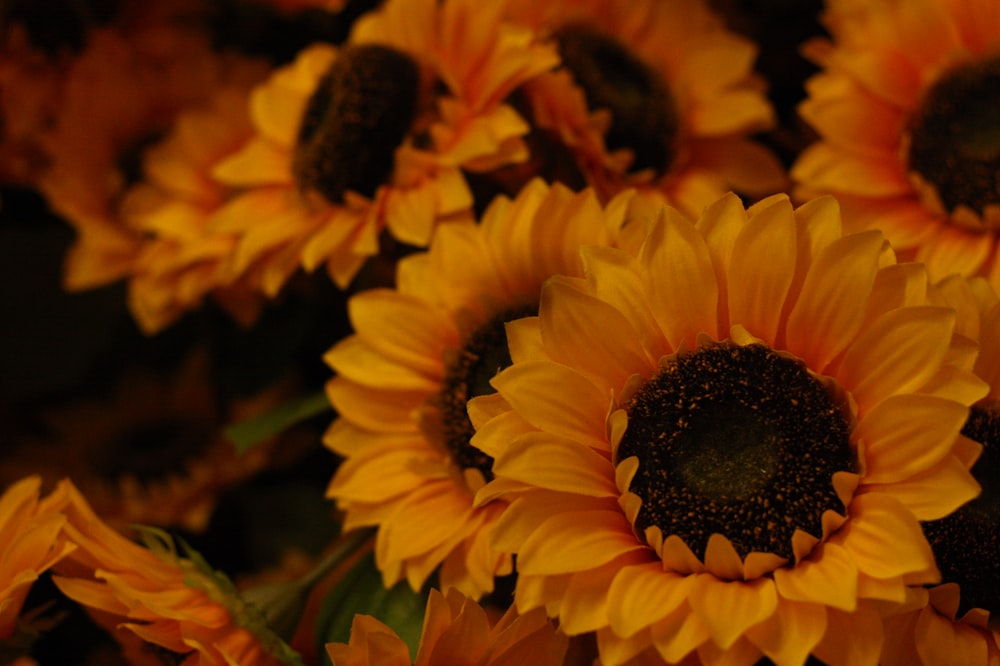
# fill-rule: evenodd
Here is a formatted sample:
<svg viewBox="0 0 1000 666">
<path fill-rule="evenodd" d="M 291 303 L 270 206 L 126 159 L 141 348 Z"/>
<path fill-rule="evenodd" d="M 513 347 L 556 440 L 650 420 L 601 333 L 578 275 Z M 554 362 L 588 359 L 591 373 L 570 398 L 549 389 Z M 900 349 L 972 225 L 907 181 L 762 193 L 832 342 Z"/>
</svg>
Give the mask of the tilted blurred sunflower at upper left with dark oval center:
<svg viewBox="0 0 1000 666">
<path fill-rule="evenodd" d="M 501 10 L 389 0 L 339 50 L 307 48 L 258 87 L 256 135 L 215 170 L 246 189 L 216 220 L 241 235 L 235 270 L 258 270 L 268 295 L 324 264 L 346 287 L 384 229 L 424 247 L 437 222 L 467 217 L 462 170 L 526 157 L 503 99 L 558 61 Z"/>
</svg>

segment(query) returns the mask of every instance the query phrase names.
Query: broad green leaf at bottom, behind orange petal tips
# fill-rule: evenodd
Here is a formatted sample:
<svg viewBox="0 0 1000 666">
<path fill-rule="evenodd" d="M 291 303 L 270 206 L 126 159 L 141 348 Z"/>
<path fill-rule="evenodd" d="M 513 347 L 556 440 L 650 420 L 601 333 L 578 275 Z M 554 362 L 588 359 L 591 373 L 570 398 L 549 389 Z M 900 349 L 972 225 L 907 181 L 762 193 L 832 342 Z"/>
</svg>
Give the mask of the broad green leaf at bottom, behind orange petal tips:
<svg viewBox="0 0 1000 666">
<path fill-rule="evenodd" d="M 351 637 L 351 623 L 358 614 L 371 615 L 396 632 L 410 648 L 412 660 L 420 645 L 429 594 L 429 585 L 414 592 L 406 581 L 386 589 L 375 558 L 369 554 L 323 600 L 316 623 L 323 663 L 330 663 L 326 644 L 347 643 Z"/>
</svg>

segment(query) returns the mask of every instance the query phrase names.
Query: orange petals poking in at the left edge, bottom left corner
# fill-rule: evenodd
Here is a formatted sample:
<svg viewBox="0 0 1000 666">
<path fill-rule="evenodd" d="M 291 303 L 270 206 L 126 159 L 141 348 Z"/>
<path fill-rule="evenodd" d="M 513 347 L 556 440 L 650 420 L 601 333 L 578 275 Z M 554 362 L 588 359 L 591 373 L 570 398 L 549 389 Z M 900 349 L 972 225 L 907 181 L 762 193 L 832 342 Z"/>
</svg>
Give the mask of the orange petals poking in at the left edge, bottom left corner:
<svg viewBox="0 0 1000 666">
<path fill-rule="evenodd" d="M 60 541 L 66 520 L 39 500 L 41 485 L 41 478 L 30 476 L 0 495 L 0 653 L 17 629 L 32 584 L 74 548 Z"/>
</svg>

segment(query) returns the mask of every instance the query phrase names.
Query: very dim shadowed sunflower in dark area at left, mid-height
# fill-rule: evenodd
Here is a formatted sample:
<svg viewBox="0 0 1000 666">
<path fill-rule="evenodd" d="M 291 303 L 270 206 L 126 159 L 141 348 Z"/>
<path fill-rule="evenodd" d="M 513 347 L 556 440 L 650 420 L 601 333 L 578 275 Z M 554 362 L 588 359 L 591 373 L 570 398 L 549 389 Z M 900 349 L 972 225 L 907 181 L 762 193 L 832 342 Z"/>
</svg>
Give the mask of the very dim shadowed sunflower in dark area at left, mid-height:
<svg viewBox="0 0 1000 666">
<path fill-rule="evenodd" d="M 268 447 L 236 452 L 220 429 L 273 406 L 278 390 L 221 404 L 210 359 L 197 351 L 169 376 L 135 369 L 108 397 L 41 415 L 41 432 L 4 451 L 0 483 L 72 477 L 102 519 L 202 531 L 218 496 L 269 460 Z"/>
</svg>

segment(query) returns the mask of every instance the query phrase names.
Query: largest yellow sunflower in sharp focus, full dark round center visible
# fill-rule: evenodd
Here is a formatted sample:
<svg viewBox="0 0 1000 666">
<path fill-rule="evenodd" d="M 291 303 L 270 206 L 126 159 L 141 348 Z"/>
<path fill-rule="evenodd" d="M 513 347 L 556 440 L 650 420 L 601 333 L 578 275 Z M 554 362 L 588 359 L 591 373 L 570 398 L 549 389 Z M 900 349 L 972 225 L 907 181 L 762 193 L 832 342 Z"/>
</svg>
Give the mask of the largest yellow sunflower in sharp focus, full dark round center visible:
<svg viewBox="0 0 1000 666">
<path fill-rule="evenodd" d="M 469 405 L 519 610 L 606 666 L 875 663 L 876 602 L 937 579 L 918 521 L 979 490 L 954 310 L 829 197 L 666 208 L 637 253 L 582 256 Z"/>
</svg>

